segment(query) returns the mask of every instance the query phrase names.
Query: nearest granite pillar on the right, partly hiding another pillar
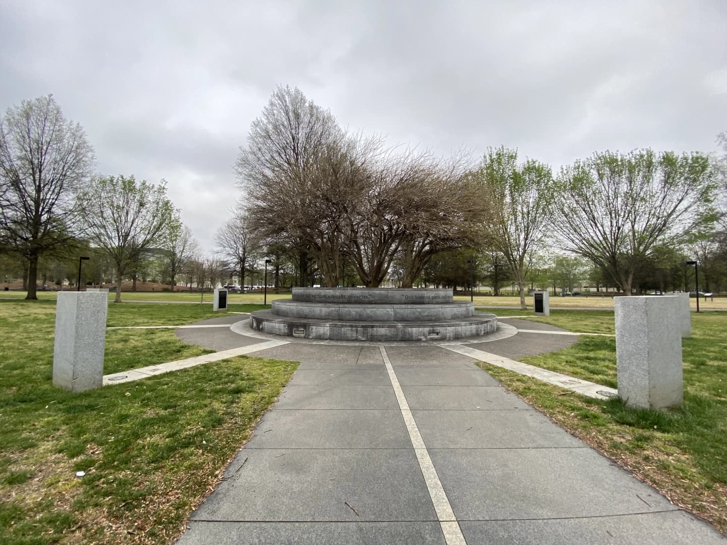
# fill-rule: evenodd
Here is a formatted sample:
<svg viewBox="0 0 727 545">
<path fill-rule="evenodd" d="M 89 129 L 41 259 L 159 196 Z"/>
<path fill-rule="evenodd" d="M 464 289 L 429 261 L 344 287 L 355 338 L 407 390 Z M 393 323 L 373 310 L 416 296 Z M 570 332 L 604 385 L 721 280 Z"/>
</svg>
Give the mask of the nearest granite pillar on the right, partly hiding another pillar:
<svg viewBox="0 0 727 545">
<path fill-rule="evenodd" d="M 682 403 L 679 297 L 622 296 L 614 306 L 619 397 L 635 408 Z"/>
</svg>

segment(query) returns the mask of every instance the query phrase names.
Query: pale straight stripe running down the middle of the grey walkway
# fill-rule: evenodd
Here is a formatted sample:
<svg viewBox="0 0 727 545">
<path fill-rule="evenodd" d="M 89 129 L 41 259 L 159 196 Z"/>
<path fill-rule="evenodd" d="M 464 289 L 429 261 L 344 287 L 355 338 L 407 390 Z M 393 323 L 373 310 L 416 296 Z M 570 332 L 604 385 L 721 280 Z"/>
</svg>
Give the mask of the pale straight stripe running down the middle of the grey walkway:
<svg viewBox="0 0 727 545">
<path fill-rule="evenodd" d="M 434 510 L 437 513 L 437 518 L 444 535 L 444 540 L 447 545 L 466 545 L 467 542 L 465 541 L 465 536 L 462 535 L 462 530 L 459 528 L 457 517 L 454 516 L 454 511 L 449 503 L 449 498 L 447 498 L 441 480 L 439 480 L 437 470 L 432 463 L 432 459 L 429 456 L 429 451 L 427 451 L 427 446 L 424 444 L 422 435 L 419 433 L 417 422 L 414 421 L 414 416 L 411 414 L 409 403 L 406 401 L 404 392 L 401 389 L 401 384 L 399 384 L 394 368 L 391 366 L 391 360 L 389 360 L 384 347 L 379 346 L 379 350 L 381 351 L 381 357 L 384 360 L 384 365 L 386 366 L 386 370 L 389 374 L 391 386 L 394 389 L 396 400 L 399 404 L 399 409 L 401 410 L 401 416 L 404 419 L 404 424 L 406 424 L 406 431 L 409 432 L 411 445 L 414 446 L 414 453 L 417 455 L 417 461 L 419 461 L 419 469 L 422 470 L 422 476 L 424 477 L 427 485 L 427 490 L 429 491 L 429 496 L 432 500 L 432 504 L 434 505 Z"/>
</svg>

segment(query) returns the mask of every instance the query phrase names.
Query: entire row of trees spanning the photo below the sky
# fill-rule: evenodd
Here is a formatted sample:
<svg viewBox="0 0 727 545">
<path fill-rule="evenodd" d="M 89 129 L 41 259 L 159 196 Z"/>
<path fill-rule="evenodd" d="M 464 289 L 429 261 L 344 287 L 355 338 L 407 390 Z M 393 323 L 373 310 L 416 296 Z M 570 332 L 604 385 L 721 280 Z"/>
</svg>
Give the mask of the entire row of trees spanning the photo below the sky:
<svg viewBox="0 0 727 545">
<path fill-rule="evenodd" d="M 412 287 L 442 280 L 447 258 L 469 252 L 490 264 L 482 267 L 495 291 L 507 275 L 524 307 L 534 254 L 585 259 L 601 283 L 631 294 L 647 278 L 670 283 L 679 276 L 675 256 L 690 249 L 716 286 L 727 262 L 724 133 L 718 142 L 720 158 L 606 151 L 554 176 L 547 164 L 520 161 L 505 147 L 475 161 L 461 151 L 442 158 L 388 145 L 342 129 L 299 89 L 278 86 L 238 153 L 241 196 L 214 238 L 225 259 L 209 259 L 224 262 L 219 275 L 241 285 L 270 259 L 276 288 L 377 287 L 386 278 Z M 117 301 L 120 280 L 137 278 L 150 249 L 164 254 L 170 289 L 190 276 L 185 268 L 199 252 L 166 182 L 94 169 L 84 130 L 51 95 L 0 117 L 0 257 L 23 262 L 28 299 L 36 298 L 39 262 L 84 245 L 113 262 Z"/>
</svg>

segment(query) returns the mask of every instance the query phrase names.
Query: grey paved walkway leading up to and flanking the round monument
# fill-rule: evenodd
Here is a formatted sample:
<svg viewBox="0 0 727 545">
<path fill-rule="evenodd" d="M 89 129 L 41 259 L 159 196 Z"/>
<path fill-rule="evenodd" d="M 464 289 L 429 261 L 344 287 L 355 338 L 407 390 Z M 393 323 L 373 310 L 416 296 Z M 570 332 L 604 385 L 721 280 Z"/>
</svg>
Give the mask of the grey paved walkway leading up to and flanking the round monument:
<svg viewBox="0 0 727 545">
<path fill-rule="evenodd" d="M 265 342 L 224 328 L 177 335 L 216 350 Z M 517 358 L 573 341 L 517 334 L 481 350 Z M 298 342 L 254 355 L 302 363 L 180 544 L 727 541 L 472 358 L 427 344 Z"/>
</svg>

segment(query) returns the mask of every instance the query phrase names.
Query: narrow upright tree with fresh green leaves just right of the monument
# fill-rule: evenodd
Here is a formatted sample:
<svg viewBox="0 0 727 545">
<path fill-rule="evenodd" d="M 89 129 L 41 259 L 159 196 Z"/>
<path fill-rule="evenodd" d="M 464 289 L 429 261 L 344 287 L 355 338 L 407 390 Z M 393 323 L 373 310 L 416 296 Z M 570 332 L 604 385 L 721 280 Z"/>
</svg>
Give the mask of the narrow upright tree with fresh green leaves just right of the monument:
<svg viewBox="0 0 727 545">
<path fill-rule="evenodd" d="M 512 268 L 524 310 L 528 257 L 547 233 L 555 198 L 553 174 L 538 161 L 518 164 L 517 150 L 503 147 L 489 148 L 475 178 L 489 203 L 484 237 Z"/>
</svg>

